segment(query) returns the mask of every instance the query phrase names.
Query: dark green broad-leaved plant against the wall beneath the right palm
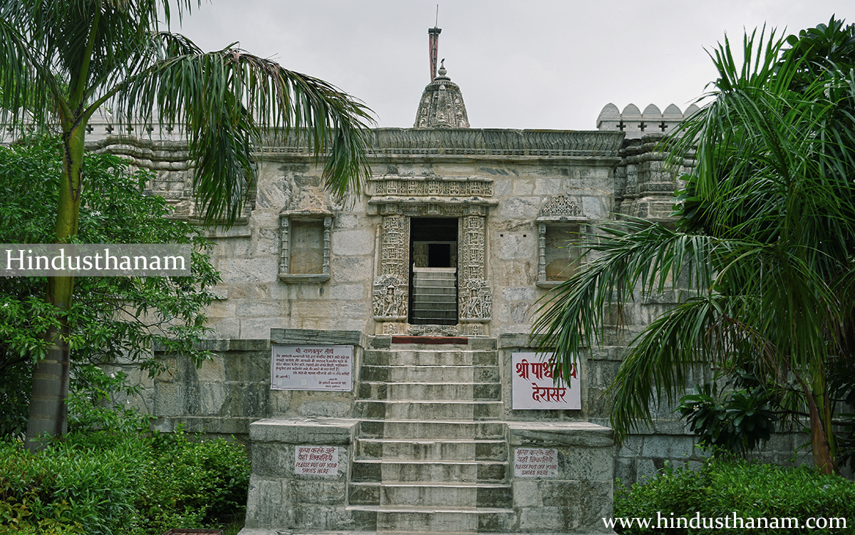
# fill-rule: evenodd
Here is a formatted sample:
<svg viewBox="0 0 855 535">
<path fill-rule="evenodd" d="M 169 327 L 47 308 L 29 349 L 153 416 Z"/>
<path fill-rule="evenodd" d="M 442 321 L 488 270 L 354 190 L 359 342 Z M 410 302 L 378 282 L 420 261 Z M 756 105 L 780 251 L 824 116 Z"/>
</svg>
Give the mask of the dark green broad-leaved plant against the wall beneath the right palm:
<svg viewBox="0 0 855 535">
<path fill-rule="evenodd" d="M 762 388 L 718 391 L 716 382 L 695 385 L 677 408 L 705 448 L 745 454 L 775 432 L 777 417 Z"/>
</svg>

